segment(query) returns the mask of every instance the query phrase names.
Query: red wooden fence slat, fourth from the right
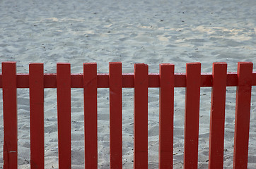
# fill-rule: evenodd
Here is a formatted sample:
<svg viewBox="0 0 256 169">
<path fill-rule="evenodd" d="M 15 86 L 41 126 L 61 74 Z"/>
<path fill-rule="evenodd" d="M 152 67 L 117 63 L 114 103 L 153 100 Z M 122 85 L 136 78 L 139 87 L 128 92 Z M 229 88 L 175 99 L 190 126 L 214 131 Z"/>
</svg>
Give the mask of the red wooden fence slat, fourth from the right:
<svg viewBox="0 0 256 169">
<path fill-rule="evenodd" d="M 174 65 L 161 64 L 159 96 L 159 169 L 173 168 Z"/>
</svg>

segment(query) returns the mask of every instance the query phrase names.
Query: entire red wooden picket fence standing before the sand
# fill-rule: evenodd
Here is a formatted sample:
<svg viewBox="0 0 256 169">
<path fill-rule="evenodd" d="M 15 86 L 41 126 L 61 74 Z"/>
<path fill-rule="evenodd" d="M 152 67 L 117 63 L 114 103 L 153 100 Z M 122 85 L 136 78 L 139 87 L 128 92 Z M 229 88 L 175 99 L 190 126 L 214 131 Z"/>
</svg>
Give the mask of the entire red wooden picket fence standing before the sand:
<svg viewBox="0 0 256 169">
<path fill-rule="evenodd" d="M 161 64 L 159 74 L 135 64 L 122 74 L 121 63 L 110 63 L 109 74 L 97 74 L 96 63 L 83 63 L 83 74 L 71 74 L 69 63 L 57 63 L 57 74 L 44 74 L 42 63 L 30 63 L 29 74 L 16 74 L 16 63 L 2 63 L 0 87 L 4 101 L 4 168 L 18 168 L 17 88 L 30 89 L 30 164 L 44 168 L 44 88 L 57 88 L 59 168 L 71 168 L 71 88 L 83 88 L 85 165 L 98 168 L 97 88 L 110 88 L 110 168 L 122 168 L 122 88 L 134 88 L 134 168 L 148 168 L 148 88 L 159 87 L 159 168 L 173 168 L 174 87 L 186 87 L 184 168 L 197 168 L 200 87 L 212 87 L 209 168 L 223 168 L 226 87 L 237 86 L 234 168 L 247 168 L 250 98 L 256 73 L 252 63 L 214 63 L 212 74 L 201 63 L 187 63 L 186 73 Z"/>
</svg>

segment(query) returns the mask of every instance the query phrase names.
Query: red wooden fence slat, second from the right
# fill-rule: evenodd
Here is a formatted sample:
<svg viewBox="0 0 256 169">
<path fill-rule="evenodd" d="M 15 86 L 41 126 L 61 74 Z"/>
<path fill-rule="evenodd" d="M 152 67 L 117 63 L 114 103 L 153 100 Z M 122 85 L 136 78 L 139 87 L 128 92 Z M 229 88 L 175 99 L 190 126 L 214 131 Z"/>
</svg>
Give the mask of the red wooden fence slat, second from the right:
<svg viewBox="0 0 256 169">
<path fill-rule="evenodd" d="M 209 168 L 223 168 L 226 63 L 213 63 L 211 89 L 211 120 L 209 138 Z"/>
</svg>

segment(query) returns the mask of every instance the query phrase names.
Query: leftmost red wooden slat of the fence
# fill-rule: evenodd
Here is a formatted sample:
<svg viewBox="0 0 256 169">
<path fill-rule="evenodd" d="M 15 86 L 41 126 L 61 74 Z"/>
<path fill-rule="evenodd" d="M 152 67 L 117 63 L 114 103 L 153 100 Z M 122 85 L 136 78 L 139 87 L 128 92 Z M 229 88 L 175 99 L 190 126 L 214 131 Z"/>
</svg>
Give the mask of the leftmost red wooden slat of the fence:
<svg viewBox="0 0 256 169">
<path fill-rule="evenodd" d="M 18 168 L 16 63 L 2 63 L 4 169 Z"/>
</svg>

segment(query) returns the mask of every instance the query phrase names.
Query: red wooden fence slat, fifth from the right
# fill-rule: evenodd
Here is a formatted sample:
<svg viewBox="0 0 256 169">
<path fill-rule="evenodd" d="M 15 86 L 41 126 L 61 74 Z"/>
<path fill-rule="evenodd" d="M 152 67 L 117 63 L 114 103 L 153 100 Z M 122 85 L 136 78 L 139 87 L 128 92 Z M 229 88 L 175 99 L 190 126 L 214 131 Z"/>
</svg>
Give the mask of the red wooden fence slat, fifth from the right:
<svg viewBox="0 0 256 169">
<path fill-rule="evenodd" d="M 148 76 L 148 65 L 134 65 L 134 169 L 148 168 Z"/>
</svg>

